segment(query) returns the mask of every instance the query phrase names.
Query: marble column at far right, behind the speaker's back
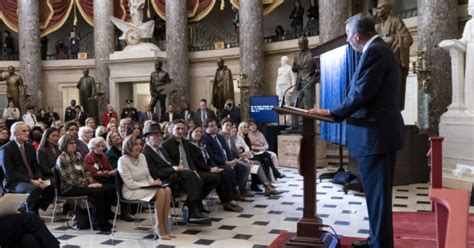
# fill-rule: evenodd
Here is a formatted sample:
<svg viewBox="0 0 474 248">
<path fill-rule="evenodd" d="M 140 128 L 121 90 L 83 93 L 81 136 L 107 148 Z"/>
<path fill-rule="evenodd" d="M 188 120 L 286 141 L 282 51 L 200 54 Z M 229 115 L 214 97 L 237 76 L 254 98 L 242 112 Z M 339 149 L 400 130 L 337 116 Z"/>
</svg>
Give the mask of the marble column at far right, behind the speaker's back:
<svg viewBox="0 0 474 248">
<path fill-rule="evenodd" d="M 438 44 L 458 37 L 457 6 L 457 0 L 418 0 L 418 50 L 425 51 L 431 70 L 429 87 L 418 84 L 418 124 L 433 135 L 452 94 L 450 57 Z"/>
</svg>

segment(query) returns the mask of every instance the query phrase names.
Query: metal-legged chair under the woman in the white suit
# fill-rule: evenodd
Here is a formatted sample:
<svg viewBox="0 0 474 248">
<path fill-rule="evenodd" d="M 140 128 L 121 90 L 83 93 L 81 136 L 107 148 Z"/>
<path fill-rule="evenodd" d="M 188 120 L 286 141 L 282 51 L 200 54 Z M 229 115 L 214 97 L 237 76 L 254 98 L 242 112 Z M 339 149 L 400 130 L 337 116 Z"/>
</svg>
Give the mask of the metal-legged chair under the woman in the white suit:
<svg viewBox="0 0 474 248">
<path fill-rule="evenodd" d="M 117 171 L 115 174 L 115 192 L 117 193 L 117 206 L 115 207 L 115 215 L 114 215 L 114 223 L 112 224 L 112 237 L 115 236 L 115 227 L 117 224 L 117 215 L 118 215 L 118 207 L 119 203 L 123 204 L 137 204 L 138 205 L 138 211 L 140 212 L 142 206 L 146 206 L 148 208 L 148 212 L 150 213 L 150 219 L 151 219 L 151 229 L 153 230 L 153 239 L 157 239 L 158 235 L 154 230 L 155 224 L 158 223 L 158 220 L 155 217 L 153 217 L 153 201 L 143 201 L 143 200 L 127 200 L 123 198 L 122 196 L 122 186 L 123 186 L 123 180 L 122 177 L 120 176 L 120 173 Z M 138 222 L 138 216 L 135 215 L 135 224 Z"/>
</svg>

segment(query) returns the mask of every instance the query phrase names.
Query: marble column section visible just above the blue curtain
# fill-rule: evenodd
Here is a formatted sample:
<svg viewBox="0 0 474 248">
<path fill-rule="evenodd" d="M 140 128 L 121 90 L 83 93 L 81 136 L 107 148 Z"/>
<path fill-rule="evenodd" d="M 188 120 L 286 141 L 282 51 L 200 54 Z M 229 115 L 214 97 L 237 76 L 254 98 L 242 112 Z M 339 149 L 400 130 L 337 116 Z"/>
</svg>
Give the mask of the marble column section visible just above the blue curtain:
<svg viewBox="0 0 474 248">
<path fill-rule="evenodd" d="M 344 22 L 349 18 L 350 1 L 319 0 L 319 42 L 345 34 Z"/>
</svg>

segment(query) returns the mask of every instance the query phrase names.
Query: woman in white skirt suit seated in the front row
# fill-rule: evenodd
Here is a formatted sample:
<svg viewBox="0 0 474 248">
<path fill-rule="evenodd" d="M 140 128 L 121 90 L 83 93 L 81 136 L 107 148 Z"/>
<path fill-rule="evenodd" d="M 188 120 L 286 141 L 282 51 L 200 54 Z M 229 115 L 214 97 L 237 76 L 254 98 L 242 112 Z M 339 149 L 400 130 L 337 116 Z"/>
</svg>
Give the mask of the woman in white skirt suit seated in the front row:
<svg viewBox="0 0 474 248">
<path fill-rule="evenodd" d="M 175 236 L 168 230 L 168 213 L 171 204 L 169 187 L 143 189 L 149 185 L 162 185 L 160 179 L 153 179 L 148 171 L 145 155 L 141 153 L 141 140 L 136 135 L 129 135 L 123 144 L 123 156 L 118 161 L 118 171 L 123 180 L 122 194 L 128 200 L 155 200 L 155 214 L 158 223 L 154 231 L 160 239 L 170 240 Z"/>
</svg>

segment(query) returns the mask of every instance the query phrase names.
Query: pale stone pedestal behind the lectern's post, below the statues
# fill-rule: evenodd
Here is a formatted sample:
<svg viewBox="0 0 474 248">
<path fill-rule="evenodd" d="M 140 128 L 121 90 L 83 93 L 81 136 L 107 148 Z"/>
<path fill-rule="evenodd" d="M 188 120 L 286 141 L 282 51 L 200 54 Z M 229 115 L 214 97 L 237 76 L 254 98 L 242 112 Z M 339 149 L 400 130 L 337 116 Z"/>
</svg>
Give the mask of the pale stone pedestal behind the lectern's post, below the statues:
<svg viewBox="0 0 474 248">
<path fill-rule="evenodd" d="M 300 134 L 278 135 L 278 162 L 280 163 L 280 166 L 299 168 L 302 138 L 303 136 Z M 327 166 L 326 142 L 321 141 L 319 136 L 317 136 L 315 142 L 315 166 L 318 168 Z"/>
</svg>

